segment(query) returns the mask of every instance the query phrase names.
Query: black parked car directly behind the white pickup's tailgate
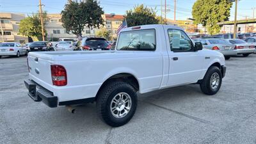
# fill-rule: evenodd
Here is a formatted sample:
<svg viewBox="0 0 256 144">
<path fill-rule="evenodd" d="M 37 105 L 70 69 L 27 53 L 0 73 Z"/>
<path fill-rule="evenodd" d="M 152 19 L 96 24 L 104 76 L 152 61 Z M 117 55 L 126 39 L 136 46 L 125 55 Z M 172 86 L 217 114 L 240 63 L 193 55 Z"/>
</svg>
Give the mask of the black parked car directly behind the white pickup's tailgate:
<svg viewBox="0 0 256 144">
<path fill-rule="evenodd" d="M 53 47 L 49 47 L 48 42 L 38 41 L 29 45 L 29 51 L 54 51 Z"/>
</svg>

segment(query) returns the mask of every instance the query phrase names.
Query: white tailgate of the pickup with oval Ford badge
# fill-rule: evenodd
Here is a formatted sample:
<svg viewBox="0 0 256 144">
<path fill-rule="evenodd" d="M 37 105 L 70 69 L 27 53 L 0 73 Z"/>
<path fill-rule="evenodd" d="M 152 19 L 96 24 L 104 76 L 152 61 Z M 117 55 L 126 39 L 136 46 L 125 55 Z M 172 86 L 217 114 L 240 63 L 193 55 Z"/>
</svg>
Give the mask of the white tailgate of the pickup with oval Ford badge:
<svg viewBox="0 0 256 144">
<path fill-rule="evenodd" d="M 38 84 L 42 86 L 52 85 L 51 61 L 36 56 L 28 56 L 29 75 Z M 48 87 L 48 86 L 46 86 Z"/>
</svg>

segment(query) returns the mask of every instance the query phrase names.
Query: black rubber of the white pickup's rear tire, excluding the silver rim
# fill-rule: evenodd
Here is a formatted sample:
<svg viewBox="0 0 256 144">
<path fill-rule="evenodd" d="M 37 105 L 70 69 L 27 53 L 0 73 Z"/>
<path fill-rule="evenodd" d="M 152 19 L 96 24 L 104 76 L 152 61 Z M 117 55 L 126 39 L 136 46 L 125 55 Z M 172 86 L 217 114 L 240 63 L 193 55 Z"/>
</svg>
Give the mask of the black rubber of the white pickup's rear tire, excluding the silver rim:
<svg viewBox="0 0 256 144">
<path fill-rule="evenodd" d="M 118 93 L 127 93 L 131 98 L 131 108 L 129 112 L 122 118 L 116 118 L 111 113 L 111 102 Z M 136 108 L 136 90 L 130 84 L 122 81 L 109 82 L 104 88 L 102 88 L 102 90 L 100 90 L 97 97 L 97 113 L 99 114 L 100 118 L 102 118 L 102 121 L 106 122 L 106 124 L 110 125 L 111 127 L 119 127 L 127 124 L 127 122 L 129 122 L 134 115 Z"/>
</svg>

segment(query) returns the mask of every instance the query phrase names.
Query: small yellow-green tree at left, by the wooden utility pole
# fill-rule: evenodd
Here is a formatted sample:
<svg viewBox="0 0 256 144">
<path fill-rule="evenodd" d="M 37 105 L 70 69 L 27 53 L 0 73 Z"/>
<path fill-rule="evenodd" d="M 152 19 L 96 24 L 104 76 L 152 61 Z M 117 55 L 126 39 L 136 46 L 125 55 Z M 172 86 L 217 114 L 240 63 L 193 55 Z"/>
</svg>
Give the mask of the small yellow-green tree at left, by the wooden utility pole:
<svg viewBox="0 0 256 144">
<path fill-rule="evenodd" d="M 44 25 L 47 24 L 49 18 L 47 13 L 43 13 Z M 24 36 L 30 36 L 33 40 L 42 39 L 42 26 L 41 20 L 38 13 L 33 13 L 31 16 L 26 17 L 25 19 L 20 20 L 19 33 Z M 44 29 L 45 35 L 47 32 Z"/>
</svg>

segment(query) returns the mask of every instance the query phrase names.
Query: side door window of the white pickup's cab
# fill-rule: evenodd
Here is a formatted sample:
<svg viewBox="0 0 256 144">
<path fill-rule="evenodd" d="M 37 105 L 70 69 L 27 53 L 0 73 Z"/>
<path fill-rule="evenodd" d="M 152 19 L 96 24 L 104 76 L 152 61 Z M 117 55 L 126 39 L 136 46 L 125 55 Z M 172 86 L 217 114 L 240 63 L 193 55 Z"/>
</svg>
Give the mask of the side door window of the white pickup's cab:
<svg viewBox="0 0 256 144">
<path fill-rule="evenodd" d="M 192 42 L 184 31 L 168 29 L 170 48 L 173 52 L 192 51 Z"/>
</svg>

